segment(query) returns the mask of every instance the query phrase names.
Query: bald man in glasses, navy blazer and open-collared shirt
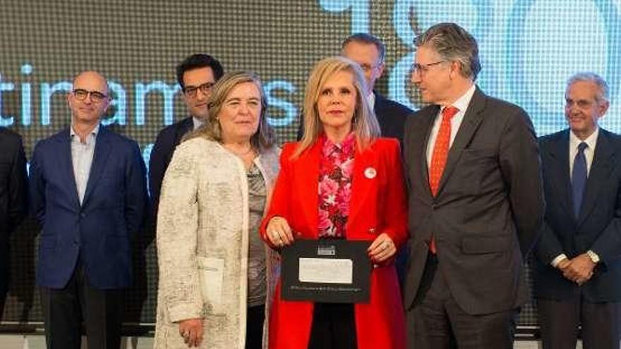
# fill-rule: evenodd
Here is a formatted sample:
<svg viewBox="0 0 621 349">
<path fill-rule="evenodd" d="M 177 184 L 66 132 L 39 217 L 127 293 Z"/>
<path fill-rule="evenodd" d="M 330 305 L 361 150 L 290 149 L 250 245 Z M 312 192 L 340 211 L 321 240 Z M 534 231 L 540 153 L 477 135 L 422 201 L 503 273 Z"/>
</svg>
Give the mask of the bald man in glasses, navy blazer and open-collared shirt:
<svg viewBox="0 0 621 349">
<path fill-rule="evenodd" d="M 111 100 L 102 75 L 80 73 L 67 99 L 71 127 L 39 142 L 30 165 L 47 348 L 80 348 L 83 321 L 89 349 L 118 349 L 145 165 L 136 142 L 100 124 Z"/>
</svg>

